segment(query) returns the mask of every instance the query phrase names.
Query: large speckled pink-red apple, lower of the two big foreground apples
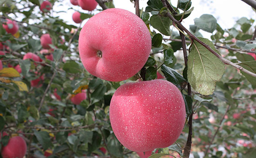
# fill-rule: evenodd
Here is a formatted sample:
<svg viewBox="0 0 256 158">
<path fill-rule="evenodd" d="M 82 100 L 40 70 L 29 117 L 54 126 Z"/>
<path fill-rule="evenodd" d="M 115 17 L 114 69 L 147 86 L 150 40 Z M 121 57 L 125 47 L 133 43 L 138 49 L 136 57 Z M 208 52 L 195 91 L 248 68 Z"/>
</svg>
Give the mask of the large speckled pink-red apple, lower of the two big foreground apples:
<svg viewBox="0 0 256 158">
<path fill-rule="evenodd" d="M 116 138 L 134 152 L 148 152 L 172 145 L 186 120 L 180 90 L 157 79 L 125 83 L 115 91 L 109 107 Z"/>
</svg>

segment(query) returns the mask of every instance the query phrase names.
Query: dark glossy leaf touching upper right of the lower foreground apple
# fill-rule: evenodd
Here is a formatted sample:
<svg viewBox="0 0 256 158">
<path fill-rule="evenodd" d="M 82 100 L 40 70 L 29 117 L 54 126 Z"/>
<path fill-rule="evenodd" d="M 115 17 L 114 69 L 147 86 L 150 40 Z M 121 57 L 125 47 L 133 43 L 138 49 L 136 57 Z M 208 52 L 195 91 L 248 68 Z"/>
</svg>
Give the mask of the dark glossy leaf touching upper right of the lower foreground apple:
<svg viewBox="0 0 256 158">
<path fill-rule="evenodd" d="M 162 70 L 164 76 L 166 77 L 166 80 L 169 82 L 172 82 L 178 88 L 183 89 L 188 84 L 188 82 L 183 78 L 183 76 L 180 75 L 174 69 L 172 69 L 166 65 L 162 65 L 161 70 Z"/>
</svg>

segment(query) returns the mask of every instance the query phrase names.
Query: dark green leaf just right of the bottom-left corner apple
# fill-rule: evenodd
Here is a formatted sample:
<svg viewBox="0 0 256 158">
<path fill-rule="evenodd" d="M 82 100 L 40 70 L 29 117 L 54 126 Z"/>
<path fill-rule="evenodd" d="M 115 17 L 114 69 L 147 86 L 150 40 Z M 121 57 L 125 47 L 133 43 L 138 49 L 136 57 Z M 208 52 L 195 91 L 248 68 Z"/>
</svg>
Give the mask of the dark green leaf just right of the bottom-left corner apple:
<svg viewBox="0 0 256 158">
<path fill-rule="evenodd" d="M 46 131 L 38 132 L 34 130 L 34 135 L 36 139 L 39 141 L 39 143 L 42 145 L 43 150 L 47 150 L 49 147 L 53 145 L 49 133 L 47 133 Z"/>
</svg>

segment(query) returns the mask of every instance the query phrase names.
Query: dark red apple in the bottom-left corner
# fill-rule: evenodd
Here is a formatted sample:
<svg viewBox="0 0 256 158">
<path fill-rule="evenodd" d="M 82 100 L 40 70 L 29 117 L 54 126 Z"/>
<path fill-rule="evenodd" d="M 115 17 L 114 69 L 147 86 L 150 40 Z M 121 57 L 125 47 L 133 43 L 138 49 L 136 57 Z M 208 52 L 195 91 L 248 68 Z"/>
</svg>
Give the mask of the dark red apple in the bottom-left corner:
<svg viewBox="0 0 256 158">
<path fill-rule="evenodd" d="M 1 154 L 3 158 L 23 158 L 27 152 L 26 141 L 20 137 L 12 137 L 6 146 L 2 146 Z"/>
</svg>

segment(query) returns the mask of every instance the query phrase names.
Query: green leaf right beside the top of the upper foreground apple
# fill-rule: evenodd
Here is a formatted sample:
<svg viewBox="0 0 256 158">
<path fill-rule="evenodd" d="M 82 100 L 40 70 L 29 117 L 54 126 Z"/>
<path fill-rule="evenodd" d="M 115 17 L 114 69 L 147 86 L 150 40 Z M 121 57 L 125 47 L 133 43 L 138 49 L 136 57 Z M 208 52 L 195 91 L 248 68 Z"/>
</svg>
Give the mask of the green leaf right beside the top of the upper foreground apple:
<svg viewBox="0 0 256 158">
<path fill-rule="evenodd" d="M 158 14 L 150 17 L 150 25 L 166 36 L 170 36 L 170 25 L 172 21 L 168 17 L 160 16 Z"/>
</svg>

